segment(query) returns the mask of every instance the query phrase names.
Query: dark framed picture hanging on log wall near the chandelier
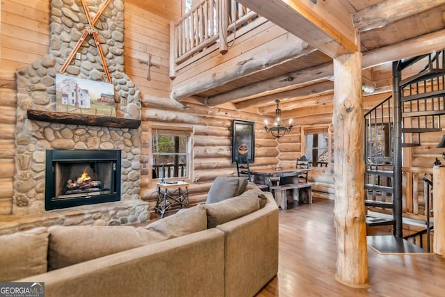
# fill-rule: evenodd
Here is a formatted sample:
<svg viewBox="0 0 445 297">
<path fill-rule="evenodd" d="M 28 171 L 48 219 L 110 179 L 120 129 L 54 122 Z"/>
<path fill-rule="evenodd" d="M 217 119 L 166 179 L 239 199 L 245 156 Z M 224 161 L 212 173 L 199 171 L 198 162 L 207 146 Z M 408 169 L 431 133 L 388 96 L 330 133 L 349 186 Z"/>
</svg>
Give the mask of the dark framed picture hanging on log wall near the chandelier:
<svg viewBox="0 0 445 297">
<path fill-rule="evenodd" d="M 248 161 L 254 162 L 255 158 L 255 127 L 254 122 L 234 120 L 232 138 L 232 163 L 236 162 L 239 155 L 247 156 Z"/>
</svg>

